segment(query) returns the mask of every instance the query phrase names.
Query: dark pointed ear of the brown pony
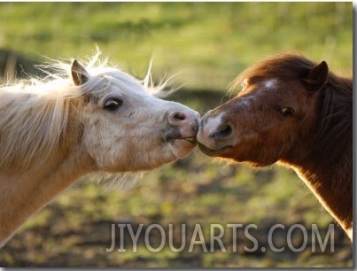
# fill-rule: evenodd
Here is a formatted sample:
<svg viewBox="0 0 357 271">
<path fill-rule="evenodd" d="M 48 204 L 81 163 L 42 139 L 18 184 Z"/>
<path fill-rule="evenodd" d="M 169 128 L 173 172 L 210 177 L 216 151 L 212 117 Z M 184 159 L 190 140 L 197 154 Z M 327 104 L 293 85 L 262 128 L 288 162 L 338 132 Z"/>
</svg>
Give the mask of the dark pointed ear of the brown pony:
<svg viewBox="0 0 357 271">
<path fill-rule="evenodd" d="M 329 66 L 327 66 L 325 61 L 314 66 L 304 79 L 304 82 L 307 84 L 307 89 L 309 91 L 318 91 L 322 89 L 327 82 L 328 75 Z"/>
</svg>

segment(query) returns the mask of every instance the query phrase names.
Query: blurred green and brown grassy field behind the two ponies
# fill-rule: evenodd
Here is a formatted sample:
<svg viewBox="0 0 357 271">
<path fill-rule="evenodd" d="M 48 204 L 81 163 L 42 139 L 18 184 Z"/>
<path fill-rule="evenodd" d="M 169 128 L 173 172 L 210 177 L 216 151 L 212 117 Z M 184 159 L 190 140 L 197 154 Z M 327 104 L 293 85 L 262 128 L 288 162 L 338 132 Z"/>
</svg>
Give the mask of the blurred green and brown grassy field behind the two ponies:
<svg viewBox="0 0 357 271">
<path fill-rule="evenodd" d="M 46 58 L 86 59 L 96 44 L 115 66 L 144 77 L 177 74 L 168 99 L 204 113 L 222 101 L 247 66 L 276 52 L 326 60 L 337 74 L 353 70 L 352 3 L 1 3 L 0 75 L 15 59 L 18 77 Z M 10 63 L 10 64 L 9 64 Z M 9 76 L 9 75 L 8 75 Z M 0 250 L 2 267 L 352 267 L 352 245 L 335 225 L 335 252 L 105 252 L 111 224 L 177 227 L 254 223 L 261 245 L 281 223 L 326 230 L 333 220 L 289 169 L 227 165 L 199 151 L 110 190 L 92 177 L 36 213 Z M 323 231 L 323 230 L 322 230 Z M 286 232 L 285 232 L 286 234 Z M 297 236 L 296 247 L 301 240 Z M 286 238 L 285 238 L 286 239 Z M 300 238 L 301 239 L 301 238 Z M 209 238 L 207 239 L 209 241 Z M 190 236 L 188 237 L 190 241 Z M 299 243 L 300 242 L 300 243 Z M 130 244 L 130 242 L 128 243 Z M 295 243 L 294 243 L 295 244 Z M 141 245 L 144 246 L 144 243 Z M 208 247 L 210 244 L 207 244 Z M 229 242 L 227 242 L 229 246 Z M 230 243 L 231 245 L 231 243 Z M 287 247 L 286 243 L 283 243 Z"/>
</svg>

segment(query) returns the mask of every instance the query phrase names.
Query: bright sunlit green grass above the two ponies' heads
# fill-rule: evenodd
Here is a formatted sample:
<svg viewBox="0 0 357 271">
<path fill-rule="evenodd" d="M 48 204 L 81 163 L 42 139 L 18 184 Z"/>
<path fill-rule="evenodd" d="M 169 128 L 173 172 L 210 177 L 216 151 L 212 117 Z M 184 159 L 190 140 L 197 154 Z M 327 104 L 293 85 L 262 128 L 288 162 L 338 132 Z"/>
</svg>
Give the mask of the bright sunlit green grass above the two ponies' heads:
<svg viewBox="0 0 357 271">
<path fill-rule="evenodd" d="M 352 70 L 352 4 L 345 3 L 6 3 L 0 48 L 39 58 L 105 56 L 144 75 L 221 89 L 246 66 L 281 51 Z"/>
</svg>

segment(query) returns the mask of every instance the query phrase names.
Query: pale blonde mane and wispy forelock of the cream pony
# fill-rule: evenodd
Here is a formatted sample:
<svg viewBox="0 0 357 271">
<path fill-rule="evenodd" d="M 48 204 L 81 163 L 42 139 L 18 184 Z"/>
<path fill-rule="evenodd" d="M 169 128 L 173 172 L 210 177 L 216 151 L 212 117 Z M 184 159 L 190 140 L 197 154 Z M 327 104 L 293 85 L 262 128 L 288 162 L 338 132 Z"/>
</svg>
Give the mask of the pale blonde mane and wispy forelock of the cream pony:
<svg viewBox="0 0 357 271">
<path fill-rule="evenodd" d="M 75 86 L 70 63 L 56 61 L 40 66 L 44 79 L 32 78 L 0 87 L 0 169 L 27 169 L 41 165 L 58 148 L 66 130 L 70 100 L 93 91 L 105 91 L 110 78 L 123 84 L 140 84 L 151 95 L 158 95 L 167 81 L 153 87 L 151 66 L 144 80 L 138 80 L 119 69 L 99 61 L 100 52 L 89 59 L 86 69 L 90 78 Z M 109 79 L 105 77 L 108 75 Z"/>
</svg>

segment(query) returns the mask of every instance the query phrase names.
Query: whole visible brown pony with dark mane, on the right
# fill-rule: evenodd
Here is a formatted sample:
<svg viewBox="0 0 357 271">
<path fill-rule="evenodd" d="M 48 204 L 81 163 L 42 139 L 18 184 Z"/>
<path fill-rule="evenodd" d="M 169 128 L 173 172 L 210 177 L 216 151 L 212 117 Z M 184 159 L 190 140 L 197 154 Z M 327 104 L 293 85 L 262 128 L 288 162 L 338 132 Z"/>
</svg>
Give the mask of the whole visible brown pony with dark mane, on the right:
<svg viewBox="0 0 357 271">
<path fill-rule="evenodd" d="M 293 168 L 353 239 L 353 81 L 295 55 L 240 74 L 243 90 L 207 112 L 201 151 L 252 166 Z"/>
</svg>

